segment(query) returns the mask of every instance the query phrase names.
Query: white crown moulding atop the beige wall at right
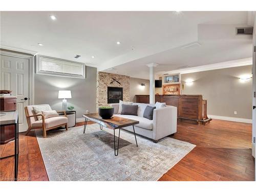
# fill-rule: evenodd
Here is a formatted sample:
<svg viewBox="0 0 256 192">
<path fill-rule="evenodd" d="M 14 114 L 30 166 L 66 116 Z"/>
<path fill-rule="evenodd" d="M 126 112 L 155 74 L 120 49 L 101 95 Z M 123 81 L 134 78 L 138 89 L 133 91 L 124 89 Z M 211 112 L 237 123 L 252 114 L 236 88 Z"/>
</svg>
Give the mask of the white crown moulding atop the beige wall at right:
<svg viewBox="0 0 256 192">
<path fill-rule="evenodd" d="M 225 68 L 233 68 L 233 67 L 241 67 L 241 66 L 249 66 L 252 65 L 252 57 L 244 58 L 244 59 L 238 59 L 238 60 L 230 60 L 225 62 L 218 62 L 214 64 L 204 65 L 204 66 L 198 66 L 198 67 L 191 67 L 191 68 L 185 68 L 185 69 L 178 69 L 173 71 L 161 71 L 157 74 L 186 74 L 186 73 L 196 73 L 201 71 L 210 71 L 210 70 L 216 70 L 216 69 L 225 69 Z"/>
</svg>

